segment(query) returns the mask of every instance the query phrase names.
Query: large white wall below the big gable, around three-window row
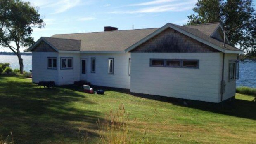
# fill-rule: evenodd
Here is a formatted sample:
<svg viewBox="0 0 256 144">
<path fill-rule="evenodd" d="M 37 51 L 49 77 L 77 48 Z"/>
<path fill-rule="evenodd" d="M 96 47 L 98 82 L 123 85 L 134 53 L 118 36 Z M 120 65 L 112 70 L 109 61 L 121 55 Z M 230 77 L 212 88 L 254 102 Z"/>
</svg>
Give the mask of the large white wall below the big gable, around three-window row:
<svg viewBox="0 0 256 144">
<path fill-rule="evenodd" d="M 199 69 L 150 67 L 150 58 L 199 59 Z M 131 53 L 134 93 L 219 102 L 220 53 Z"/>
</svg>

